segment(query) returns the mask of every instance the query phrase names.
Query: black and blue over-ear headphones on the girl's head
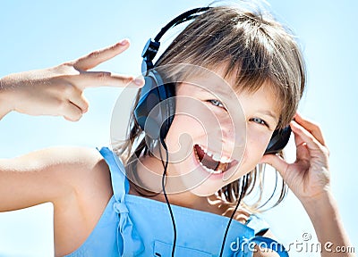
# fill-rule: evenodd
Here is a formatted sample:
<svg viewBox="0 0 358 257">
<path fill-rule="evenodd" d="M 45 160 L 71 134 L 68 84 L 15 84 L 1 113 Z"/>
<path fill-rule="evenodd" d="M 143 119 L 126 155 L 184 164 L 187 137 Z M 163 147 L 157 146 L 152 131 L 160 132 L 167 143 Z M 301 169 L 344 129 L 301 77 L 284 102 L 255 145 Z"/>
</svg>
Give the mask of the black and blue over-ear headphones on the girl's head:
<svg viewBox="0 0 358 257">
<path fill-rule="evenodd" d="M 146 135 L 153 139 L 163 140 L 166 137 L 175 116 L 175 85 L 174 83 L 165 84 L 158 71 L 153 69 L 152 61 L 158 53 L 159 40 L 167 30 L 184 21 L 191 21 L 209 9 L 210 7 L 202 7 L 183 12 L 167 23 L 154 40 L 149 38 L 146 46 L 144 46 L 141 54 L 143 58 L 141 72 L 144 76 L 145 84 L 141 88 L 140 99 L 134 109 L 134 117 Z M 290 135 L 290 126 L 275 130 L 265 154 L 280 152 L 287 145 Z"/>
</svg>

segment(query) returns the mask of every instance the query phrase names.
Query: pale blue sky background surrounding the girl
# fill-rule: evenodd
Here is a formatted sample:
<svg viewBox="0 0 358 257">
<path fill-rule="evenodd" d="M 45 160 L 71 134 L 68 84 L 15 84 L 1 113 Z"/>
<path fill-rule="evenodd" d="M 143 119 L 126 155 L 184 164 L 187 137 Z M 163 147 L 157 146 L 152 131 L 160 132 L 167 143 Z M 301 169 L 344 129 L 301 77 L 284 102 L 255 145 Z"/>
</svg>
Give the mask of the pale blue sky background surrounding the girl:
<svg viewBox="0 0 358 257">
<path fill-rule="evenodd" d="M 139 74 L 141 50 L 175 15 L 211 1 L 10 1 L 0 4 L 0 77 L 54 66 L 114 44 L 131 48 L 97 70 Z M 299 110 L 320 123 L 330 149 L 332 190 L 345 228 L 358 247 L 356 217 L 356 1 L 268 0 L 277 19 L 297 35 L 307 63 L 308 87 Z M 166 38 L 166 40 L 169 40 Z M 11 113 L 0 122 L 0 156 L 13 157 L 51 145 L 107 144 L 112 108 L 120 90 L 91 88 L 90 112 L 80 122 Z M 36 94 L 36 92 L 34 93 Z M 126 120 L 124 120 L 124 126 Z M 0 256 L 51 256 L 51 205 L 0 213 Z M 289 244 L 313 228 L 303 207 L 289 194 L 265 212 L 274 233 Z M 306 256 L 293 253 L 292 256 Z M 311 255 L 310 255 L 311 256 Z"/>
</svg>

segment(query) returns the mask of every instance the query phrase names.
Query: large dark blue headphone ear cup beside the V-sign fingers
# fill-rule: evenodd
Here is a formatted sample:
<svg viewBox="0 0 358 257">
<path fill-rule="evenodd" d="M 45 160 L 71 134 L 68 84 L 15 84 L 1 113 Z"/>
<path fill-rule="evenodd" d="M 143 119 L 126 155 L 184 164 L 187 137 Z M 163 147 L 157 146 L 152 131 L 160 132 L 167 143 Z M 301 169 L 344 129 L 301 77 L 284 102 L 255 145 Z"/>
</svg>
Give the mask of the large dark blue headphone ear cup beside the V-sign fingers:
<svg viewBox="0 0 358 257">
<path fill-rule="evenodd" d="M 165 138 L 175 114 L 175 87 L 163 84 L 156 70 L 149 70 L 144 80 L 134 118 L 147 136 Z"/>
</svg>

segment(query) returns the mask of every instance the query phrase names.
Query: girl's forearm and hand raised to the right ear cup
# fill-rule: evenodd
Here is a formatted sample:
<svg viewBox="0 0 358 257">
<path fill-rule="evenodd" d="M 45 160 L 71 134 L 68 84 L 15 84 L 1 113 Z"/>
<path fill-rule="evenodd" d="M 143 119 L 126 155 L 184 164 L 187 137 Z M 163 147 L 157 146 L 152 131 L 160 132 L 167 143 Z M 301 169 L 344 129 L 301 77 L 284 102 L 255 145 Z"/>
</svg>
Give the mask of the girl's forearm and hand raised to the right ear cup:
<svg viewBox="0 0 358 257">
<path fill-rule="evenodd" d="M 287 163 L 277 155 L 268 154 L 262 162 L 276 168 L 303 203 L 322 245 L 321 256 L 354 256 L 354 253 L 340 252 L 352 245 L 331 194 L 329 152 L 320 127 L 296 114 L 291 129 L 296 144 L 296 161 Z"/>
</svg>

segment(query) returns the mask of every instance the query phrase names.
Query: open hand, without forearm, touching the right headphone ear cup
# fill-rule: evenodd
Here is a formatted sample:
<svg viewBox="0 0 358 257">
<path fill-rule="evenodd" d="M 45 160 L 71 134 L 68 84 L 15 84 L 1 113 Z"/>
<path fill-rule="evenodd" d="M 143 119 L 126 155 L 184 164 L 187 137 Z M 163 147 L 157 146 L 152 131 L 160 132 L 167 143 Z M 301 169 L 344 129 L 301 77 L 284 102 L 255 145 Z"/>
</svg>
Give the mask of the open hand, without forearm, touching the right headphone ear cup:
<svg viewBox="0 0 358 257">
<path fill-rule="evenodd" d="M 304 205 L 329 192 L 329 152 L 318 125 L 296 114 L 290 126 L 296 145 L 295 162 L 287 163 L 273 154 L 264 155 L 261 162 L 277 169 Z"/>
</svg>

